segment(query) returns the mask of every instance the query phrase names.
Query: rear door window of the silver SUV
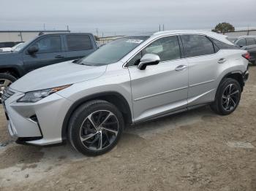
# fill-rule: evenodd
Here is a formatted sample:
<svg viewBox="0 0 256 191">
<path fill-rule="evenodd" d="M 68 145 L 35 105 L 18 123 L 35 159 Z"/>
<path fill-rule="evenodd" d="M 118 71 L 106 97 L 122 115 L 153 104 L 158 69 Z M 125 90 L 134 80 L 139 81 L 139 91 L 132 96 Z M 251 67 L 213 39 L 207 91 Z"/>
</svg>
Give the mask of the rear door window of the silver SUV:
<svg viewBox="0 0 256 191">
<path fill-rule="evenodd" d="M 181 35 L 186 57 L 214 54 L 214 44 L 203 35 Z"/>
</svg>

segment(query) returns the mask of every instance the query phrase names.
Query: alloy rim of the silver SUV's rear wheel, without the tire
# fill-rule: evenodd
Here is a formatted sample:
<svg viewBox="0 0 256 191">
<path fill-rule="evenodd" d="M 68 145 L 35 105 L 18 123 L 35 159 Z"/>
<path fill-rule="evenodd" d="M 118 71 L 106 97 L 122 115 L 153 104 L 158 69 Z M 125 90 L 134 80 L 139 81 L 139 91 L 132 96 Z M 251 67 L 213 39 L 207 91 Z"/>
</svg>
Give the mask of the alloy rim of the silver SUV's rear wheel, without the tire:
<svg viewBox="0 0 256 191">
<path fill-rule="evenodd" d="M 239 89 L 237 85 L 227 85 L 222 94 L 222 107 L 226 111 L 232 111 L 236 108 L 239 101 Z"/>
</svg>

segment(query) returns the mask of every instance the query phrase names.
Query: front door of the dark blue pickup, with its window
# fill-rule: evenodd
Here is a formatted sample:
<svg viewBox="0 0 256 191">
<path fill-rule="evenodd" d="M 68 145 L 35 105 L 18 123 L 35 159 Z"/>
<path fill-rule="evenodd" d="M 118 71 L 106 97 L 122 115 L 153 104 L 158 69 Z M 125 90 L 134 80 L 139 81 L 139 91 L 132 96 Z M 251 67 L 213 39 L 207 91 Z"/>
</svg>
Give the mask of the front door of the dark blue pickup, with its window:
<svg viewBox="0 0 256 191">
<path fill-rule="evenodd" d="M 29 54 L 27 50 L 31 46 L 37 46 L 38 52 Z M 62 49 L 60 35 L 42 36 L 31 43 L 29 47 L 23 51 L 23 63 L 26 72 L 65 61 L 65 52 Z"/>
</svg>

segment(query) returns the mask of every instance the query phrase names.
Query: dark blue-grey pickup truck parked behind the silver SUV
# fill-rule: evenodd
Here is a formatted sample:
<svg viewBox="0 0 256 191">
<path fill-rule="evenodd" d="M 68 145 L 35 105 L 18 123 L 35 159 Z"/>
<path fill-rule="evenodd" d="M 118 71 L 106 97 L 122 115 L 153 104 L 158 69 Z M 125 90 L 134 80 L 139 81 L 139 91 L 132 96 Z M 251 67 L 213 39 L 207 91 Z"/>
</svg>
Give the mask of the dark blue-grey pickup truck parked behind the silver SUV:
<svg viewBox="0 0 256 191">
<path fill-rule="evenodd" d="M 92 34 L 44 34 L 11 52 L 0 52 L 0 101 L 6 87 L 29 71 L 82 58 L 97 48 Z"/>
</svg>

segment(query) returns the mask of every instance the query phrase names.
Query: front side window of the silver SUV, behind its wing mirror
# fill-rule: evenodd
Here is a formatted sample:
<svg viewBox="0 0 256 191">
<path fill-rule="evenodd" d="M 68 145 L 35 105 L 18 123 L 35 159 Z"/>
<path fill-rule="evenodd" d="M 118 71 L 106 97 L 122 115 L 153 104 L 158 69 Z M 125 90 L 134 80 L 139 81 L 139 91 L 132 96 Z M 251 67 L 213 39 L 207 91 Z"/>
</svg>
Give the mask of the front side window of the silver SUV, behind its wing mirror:
<svg viewBox="0 0 256 191">
<path fill-rule="evenodd" d="M 146 54 L 159 55 L 160 62 L 171 61 L 181 58 L 181 51 L 178 44 L 177 36 L 167 36 L 149 44 L 143 50 L 138 52 L 129 62 L 128 66 L 138 66 L 140 58 Z"/>
</svg>

